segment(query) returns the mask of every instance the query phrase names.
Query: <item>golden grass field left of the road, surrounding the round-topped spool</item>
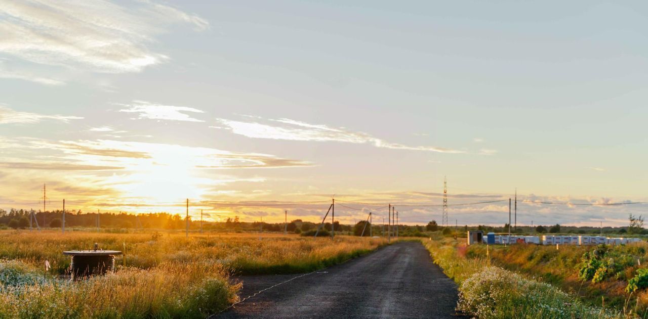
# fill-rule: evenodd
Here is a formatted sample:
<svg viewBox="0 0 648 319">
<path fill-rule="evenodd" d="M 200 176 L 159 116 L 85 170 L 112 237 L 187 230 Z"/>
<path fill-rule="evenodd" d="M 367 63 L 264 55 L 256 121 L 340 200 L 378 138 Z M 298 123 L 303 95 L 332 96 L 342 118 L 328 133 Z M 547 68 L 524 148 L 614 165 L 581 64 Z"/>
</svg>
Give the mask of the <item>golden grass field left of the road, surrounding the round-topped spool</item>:
<svg viewBox="0 0 648 319">
<path fill-rule="evenodd" d="M 69 258 L 61 253 L 94 243 L 126 252 L 115 273 L 67 280 Z M 237 301 L 240 286 L 228 280 L 231 274 L 321 269 L 384 244 L 351 236 L 5 230 L 0 318 L 204 318 Z"/>
</svg>

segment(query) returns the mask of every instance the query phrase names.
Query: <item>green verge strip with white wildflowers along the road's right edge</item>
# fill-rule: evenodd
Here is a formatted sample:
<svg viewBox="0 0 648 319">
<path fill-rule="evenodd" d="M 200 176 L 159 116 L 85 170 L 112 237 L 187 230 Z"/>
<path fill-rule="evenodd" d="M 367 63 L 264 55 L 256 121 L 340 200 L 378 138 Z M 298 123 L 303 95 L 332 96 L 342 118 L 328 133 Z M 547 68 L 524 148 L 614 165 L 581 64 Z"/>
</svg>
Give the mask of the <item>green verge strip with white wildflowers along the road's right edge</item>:
<svg viewBox="0 0 648 319">
<path fill-rule="evenodd" d="M 423 243 L 434 262 L 459 285 L 457 308 L 471 316 L 623 318 L 617 309 L 590 305 L 550 283 L 499 267 L 485 254 L 469 254 L 462 239 L 437 237 Z"/>
</svg>

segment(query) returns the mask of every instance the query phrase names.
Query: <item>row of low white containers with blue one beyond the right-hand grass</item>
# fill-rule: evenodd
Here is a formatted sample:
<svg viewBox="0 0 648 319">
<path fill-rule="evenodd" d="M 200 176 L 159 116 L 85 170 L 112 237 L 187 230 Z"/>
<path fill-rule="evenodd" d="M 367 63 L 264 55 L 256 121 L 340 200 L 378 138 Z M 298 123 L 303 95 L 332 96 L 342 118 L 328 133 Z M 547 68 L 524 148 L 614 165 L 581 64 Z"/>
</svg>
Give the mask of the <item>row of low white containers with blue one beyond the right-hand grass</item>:
<svg viewBox="0 0 648 319">
<path fill-rule="evenodd" d="M 511 245 L 518 243 L 536 245 L 625 245 L 642 241 L 640 238 L 616 238 L 605 236 L 509 236 L 489 232 L 483 236 L 481 231 L 468 232 L 468 245 L 487 243 L 489 245 Z"/>
</svg>

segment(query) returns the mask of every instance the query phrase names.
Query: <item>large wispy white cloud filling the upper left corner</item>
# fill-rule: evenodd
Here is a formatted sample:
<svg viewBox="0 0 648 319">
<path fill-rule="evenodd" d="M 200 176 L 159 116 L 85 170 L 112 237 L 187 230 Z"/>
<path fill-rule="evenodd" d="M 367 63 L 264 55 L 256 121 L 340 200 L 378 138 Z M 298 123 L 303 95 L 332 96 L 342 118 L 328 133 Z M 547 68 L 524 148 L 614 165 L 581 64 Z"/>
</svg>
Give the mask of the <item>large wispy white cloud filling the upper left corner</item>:
<svg viewBox="0 0 648 319">
<path fill-rule="evenodd" d="M 103 0 L 8 1 L 0 6 L 0 52 L 71 69 L 139 72 L 168 60 L 146 45 L 176 23 L 209 28 L 199 16 L 151 1 L 128 8 Z"/>
</svg>

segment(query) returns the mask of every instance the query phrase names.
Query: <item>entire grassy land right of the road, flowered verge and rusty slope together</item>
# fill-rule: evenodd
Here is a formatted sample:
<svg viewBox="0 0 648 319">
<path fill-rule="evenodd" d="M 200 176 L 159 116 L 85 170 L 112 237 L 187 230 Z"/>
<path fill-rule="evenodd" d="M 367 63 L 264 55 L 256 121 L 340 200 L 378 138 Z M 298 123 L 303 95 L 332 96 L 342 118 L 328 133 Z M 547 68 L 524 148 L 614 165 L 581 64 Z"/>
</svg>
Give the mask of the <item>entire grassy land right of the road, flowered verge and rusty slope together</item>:
<svg viewBox="0 0 648 319">
<path fill-rule="evenodd" d="M 648 243 L 556 249 L 466 247 L 464 240 L 439 237 L 424 244 L 460 285 L 459 308 L 467 313 L 480 318 L 648 316 Z"/>
</svg>

